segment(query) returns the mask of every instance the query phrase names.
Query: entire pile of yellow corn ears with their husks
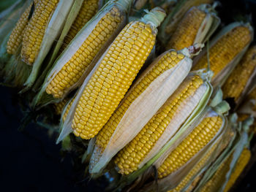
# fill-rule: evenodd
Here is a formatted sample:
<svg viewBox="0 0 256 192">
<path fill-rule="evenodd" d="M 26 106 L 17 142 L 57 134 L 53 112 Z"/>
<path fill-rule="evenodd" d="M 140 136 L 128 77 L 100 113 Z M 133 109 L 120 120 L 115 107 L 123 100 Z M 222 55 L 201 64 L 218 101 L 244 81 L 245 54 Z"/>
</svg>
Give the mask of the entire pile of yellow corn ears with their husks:
<svg viewBox="0 0 256 192">
<path fill-rule="evenodd" d="M 110 190 L 154 191 L 157 179 L 158 191 L 228 191 L 249 161 L 252 27 L 211 37 L 220 19 L 208 0 L 178 1 L 167 17 L 155 4 L 170 1 L 104 2 L 19 0 L 15 23 L 0 15 L 4 82 L 38 116 L 61 116 L 57 142 L 88 146 L 86 170 L 111 177 Z"/>
</svg>

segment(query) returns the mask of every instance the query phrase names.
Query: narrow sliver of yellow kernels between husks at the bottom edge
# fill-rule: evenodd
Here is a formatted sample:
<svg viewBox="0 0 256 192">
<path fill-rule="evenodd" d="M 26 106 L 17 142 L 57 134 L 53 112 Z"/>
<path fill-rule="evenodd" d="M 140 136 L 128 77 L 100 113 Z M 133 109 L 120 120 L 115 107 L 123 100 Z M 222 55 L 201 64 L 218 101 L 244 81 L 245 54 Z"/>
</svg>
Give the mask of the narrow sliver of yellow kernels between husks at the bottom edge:
<svg viewBox="0 0 256 192">
<path fill-rule="evenodd" d="M 213 146 L 211 146 L 211 149 L 207 151 L 206 155 L 204 155 L 203 158 L 200 159 L 200 161 L 193 167 L 193 169 L 187 174 L 187 176 L 184 177 L 183 180 L 181 180 L 181 183 L 179 183 L 176 186 L 176 188 L 173 188 L 168 192 L 181 191 L 191 181 L 192 177 L 194 177 L 195 174 L 197 174 L 198 172 L 200 172 L 201 169 L 203 169 L 203 167 L 206 165 L 206 162 L 211 157 L 211 154 L 214 152 L 214 150 L 216 150 L 218 145 L 219 145 L 219 142 L 216 142 Z"/>
</svg>

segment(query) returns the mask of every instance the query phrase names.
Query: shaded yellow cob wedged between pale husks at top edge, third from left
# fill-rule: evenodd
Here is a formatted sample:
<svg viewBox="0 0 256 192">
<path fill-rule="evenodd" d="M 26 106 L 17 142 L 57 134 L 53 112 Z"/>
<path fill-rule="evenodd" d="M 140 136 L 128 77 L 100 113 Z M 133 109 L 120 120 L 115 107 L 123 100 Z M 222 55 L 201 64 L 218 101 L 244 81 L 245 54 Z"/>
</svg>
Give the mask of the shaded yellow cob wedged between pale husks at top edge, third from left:
<svg viewBox="0 0 256 192">
<path fill-rule="evenodd" d="M 96 14 L 99 7 L 99 0 L 84 0 L 78 16 L 75 18 L 74 23 L 72 23 L 71 28 L 67 36 L 64 39 L 63 45 L 60 49 L 60 53 L 69 45 L 72 39 L 78 34 L 83 26 Z"/>
</svg>

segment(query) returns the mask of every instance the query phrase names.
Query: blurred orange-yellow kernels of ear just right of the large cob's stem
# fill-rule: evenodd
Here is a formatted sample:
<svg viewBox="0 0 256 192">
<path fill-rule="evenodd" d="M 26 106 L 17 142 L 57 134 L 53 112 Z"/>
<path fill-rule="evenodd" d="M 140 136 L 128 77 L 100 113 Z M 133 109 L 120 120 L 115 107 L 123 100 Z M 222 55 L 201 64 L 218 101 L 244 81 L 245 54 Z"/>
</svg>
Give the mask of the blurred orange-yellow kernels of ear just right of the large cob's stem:
<svg viewBox="0 0 256 192">
<path fill-rule="evenodd" d="M 192 7 L 184 15 L 176 31 L 171 36 L 170 41 L 167 43 L 167 49 L 181 50 L 184 47 L 193 45 L 197 31 L 205 18 L 206 12 L 197 7 Z"/>
</svg>

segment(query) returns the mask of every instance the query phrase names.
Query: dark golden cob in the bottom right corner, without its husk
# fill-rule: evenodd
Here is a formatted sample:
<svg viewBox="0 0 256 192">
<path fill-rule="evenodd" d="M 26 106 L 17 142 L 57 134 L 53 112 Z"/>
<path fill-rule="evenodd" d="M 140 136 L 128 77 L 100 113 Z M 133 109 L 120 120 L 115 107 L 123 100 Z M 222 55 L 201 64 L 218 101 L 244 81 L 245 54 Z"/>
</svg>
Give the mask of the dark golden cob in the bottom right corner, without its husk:
<svg viewBox="0 0 256 192">
<path fill-rule="evenodd" d="M 230 175 L 227 185 L 225 186 L 224 192 L 229 191 L 230 188 L 234 185 L 234 183 L 236 183 L 236 179 L 239 177 L 241 172 L 243 172 L 246 164 L 248 164 L 249 159 L 251 158 L 251 155 L 251 151 L 247 148 L 244 148 L 240 157 L 238 158 L 238 161 L 232 174 Z"/>
</svg>

